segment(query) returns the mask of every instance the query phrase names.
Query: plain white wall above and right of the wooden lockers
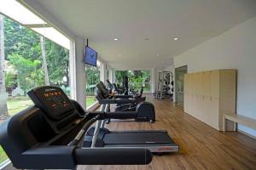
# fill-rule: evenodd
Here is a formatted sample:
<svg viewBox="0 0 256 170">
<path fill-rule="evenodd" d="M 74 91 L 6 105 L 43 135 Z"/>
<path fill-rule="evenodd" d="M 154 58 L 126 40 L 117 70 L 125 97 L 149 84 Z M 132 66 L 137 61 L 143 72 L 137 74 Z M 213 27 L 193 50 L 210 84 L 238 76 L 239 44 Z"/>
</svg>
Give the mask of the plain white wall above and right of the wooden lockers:
<svg viewBox="0 0 256 170">
<path fill-rule="evenodd" d="M 256 119 L 256 17 L 178 55 L 174 65 L 188 65 L 189 72 L 237 69 L 236 112 Z M 238 129 L 256 136 L 251 128 Z"/>
</svg>

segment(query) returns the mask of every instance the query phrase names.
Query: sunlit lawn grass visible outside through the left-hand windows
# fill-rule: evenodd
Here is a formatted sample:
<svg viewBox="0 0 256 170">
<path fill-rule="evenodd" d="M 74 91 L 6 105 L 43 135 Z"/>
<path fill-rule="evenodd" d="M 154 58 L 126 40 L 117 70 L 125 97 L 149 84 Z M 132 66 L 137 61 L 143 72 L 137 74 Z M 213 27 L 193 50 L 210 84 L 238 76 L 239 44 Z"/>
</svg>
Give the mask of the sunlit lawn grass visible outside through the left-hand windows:
<svg viewBox="0 0 256 170">
<path fill-rule="evenodd" d="M 87 96 L 85 102 L 87 107 L 89 107 L 90 105 L 96 102 L 96 98 L 95 96 Z M 9 98 L 7 101 L 9 116 L 14 116 L 16 113 L 26 109 L 30 105 L 33 105 L 32 100 L 26 96 Z M 3 151 L 3 148 L 0 146 L 0 163 L 7 159 L 8 156 L 6 156 L 6 154 Z"/>
</svg>

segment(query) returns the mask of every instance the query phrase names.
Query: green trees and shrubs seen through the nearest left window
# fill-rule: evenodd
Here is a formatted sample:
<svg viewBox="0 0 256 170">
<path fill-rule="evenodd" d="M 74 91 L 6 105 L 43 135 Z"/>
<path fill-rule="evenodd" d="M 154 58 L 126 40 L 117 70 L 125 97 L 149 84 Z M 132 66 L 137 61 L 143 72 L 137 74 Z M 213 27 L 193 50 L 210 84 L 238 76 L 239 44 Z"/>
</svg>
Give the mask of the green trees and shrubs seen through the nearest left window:
<svg viewBox="0 0 256 170">
<path fill-rule="evenodd" d="M 4 18 L 4 51 L 7 63 L 6 88 L 11 91 L 19 85 L 27 92 L 44 85 L 44 67 L 40 35 Z M 45 39 L 49 82 L 68 91 L 68 50 Z"/>
</svg>

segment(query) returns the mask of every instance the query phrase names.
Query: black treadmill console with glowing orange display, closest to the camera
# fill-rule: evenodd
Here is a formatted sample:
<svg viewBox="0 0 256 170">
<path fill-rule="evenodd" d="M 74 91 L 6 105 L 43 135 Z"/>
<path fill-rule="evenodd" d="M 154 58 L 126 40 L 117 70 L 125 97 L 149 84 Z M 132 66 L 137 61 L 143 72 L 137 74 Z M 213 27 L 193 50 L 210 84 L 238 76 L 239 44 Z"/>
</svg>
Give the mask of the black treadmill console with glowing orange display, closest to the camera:
<svg viewBox="0 0 256 170">
<path fill-rule="evenodd" d="M 74 110 L 73 104 L 61 88 L 43 86 L 33 88 L 27 94 L 52 119 L 60 120 Z"/>
</svg>

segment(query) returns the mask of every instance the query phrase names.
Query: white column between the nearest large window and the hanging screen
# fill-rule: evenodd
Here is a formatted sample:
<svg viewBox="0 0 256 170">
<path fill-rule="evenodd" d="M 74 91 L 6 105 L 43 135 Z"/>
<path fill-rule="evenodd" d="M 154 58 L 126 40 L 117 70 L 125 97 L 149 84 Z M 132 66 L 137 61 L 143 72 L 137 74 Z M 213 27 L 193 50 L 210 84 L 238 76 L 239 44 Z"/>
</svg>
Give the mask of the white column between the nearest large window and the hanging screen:
<svg viewBox="0 0 256 170">
<path fill-rule="evenodd" d="M 84 65 L 84 39 L 76 37 L 75 44 L 71 45 L 70 52 L 70 86 L 73 89 L 71 98 L 79 102 L 86 109 L 85 104 L 85 65 Z"/>
</svg>

